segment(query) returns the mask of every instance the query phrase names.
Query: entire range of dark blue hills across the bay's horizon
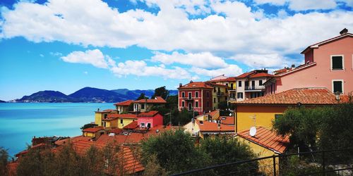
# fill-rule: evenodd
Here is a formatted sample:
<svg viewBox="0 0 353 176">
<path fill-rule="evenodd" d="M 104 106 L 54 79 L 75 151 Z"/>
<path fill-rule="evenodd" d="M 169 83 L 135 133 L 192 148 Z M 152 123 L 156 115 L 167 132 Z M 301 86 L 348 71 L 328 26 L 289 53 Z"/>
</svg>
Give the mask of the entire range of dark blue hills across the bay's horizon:
<svg viewBox="0 0 353 176">
<path fill-rule="evenodd" d="M 97 89 L 93 87 L 84 87 L 79 89 L 73 94 L 64 94 L 58 91 L 44 90 L 31 94 L 30 96 L 23 96 L 21 99 L 14 99 L 10 102 L 49 102 L 49 103 L 59 103 L 59 102 L 92 102 L 92 103 L 116 103 L 120 101 L 126 101 L 128 99 L 135 100 L 143 93 L 145 96 L 151 97 L 155 91 L 152 89 L 148 90 L 129 90 L 129 89 Z M 178 94 L 177 90 L 169 90 L 170 95 Z"/>
</svg>

